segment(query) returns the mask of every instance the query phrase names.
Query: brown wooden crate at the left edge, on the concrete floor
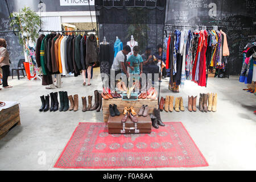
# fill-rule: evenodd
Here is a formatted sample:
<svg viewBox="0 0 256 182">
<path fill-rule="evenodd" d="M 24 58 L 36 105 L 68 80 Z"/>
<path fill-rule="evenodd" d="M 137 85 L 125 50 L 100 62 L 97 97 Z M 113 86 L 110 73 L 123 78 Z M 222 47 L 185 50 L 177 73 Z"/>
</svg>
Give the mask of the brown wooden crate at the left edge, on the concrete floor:
<svg viewBox="0 0 256 182">
<path fill-rule="evenodd" d="M 19 105 L 0 111 L 0 139 L 5 137 L 14 125 L 20 125 Z"/>
</svg>

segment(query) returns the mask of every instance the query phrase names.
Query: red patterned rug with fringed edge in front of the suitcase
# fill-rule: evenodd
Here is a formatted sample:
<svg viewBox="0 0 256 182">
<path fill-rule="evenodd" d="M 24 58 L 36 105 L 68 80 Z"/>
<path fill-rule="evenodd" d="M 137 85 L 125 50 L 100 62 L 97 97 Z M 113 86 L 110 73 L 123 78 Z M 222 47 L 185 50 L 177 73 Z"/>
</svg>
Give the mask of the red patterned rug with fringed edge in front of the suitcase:
<svg viewBox="0 0 256 182">
<path fill-rule="evenodd" d="M 105 123 L 79 123 L 56 168 L 205 167 L 207 161 L 181 122 L 151 134 L 109 134 Z"/>
</svg>

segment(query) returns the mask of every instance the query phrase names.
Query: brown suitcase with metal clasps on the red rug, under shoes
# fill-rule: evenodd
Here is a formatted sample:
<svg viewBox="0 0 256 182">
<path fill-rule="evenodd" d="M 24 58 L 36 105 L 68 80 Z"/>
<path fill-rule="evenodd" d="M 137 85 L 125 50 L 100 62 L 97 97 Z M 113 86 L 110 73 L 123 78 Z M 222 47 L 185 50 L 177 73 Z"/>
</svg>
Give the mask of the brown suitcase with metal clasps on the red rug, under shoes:
<svg viewBox="0 0 256 182">
<path fill-rule="evenodd" d="M 128 117 L 126 123 L 121 123 L 123 114 L 112 117 L 109 116 L 108 129 L 109 134 L 132 134 L 132 133 L 151 133 L 152 122 L 150 116 L 138 117 L 138 123 L 134 123 Z"/>
</svg>

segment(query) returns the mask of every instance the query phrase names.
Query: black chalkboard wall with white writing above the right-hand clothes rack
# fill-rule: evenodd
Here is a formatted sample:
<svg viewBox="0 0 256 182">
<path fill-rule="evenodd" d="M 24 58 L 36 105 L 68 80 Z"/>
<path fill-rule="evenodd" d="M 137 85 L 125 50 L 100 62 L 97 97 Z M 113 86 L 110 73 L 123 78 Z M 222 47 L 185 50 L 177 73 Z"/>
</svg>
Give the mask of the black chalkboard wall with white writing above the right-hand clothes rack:
<svg viewBox="0 0 256 182">
<path fill-rule="evenodd" d="M 241 72 L 241 52 L 256 37 L 255 0 L 172 0 L 167 2 L 167 24 L 222 26 L 228 36 L 230 75 Z M 219 28 L 220 29 L 220 28 Z"/>
</svg>

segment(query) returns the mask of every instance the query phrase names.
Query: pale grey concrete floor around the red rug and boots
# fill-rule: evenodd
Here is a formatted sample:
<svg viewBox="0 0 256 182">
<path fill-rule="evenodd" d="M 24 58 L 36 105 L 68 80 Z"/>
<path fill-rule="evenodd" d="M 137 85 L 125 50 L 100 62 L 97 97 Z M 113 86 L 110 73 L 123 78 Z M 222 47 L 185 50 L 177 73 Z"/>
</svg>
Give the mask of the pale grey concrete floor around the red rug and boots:
<svg viewBox="0 0 256 182">
<path fill-rule="evenodd" d="M 99 69 L 96 70 L 92 86 L 82 86 L 82 77 L 64 77 L 63 87 L 55 89 L 79 94 L 80 107 L 76 113 L 40 113 L 40 97 L 49 94 L 41 81 L 9 78 L 12 89 L 2 89 L 0 100 L 20 103 L 21 126 L 14 127 L 0 140 L 0 170 L 63 170 L 53 168 L 69 138 L 79 122 L 103 121 L 102 113 L 81 111 L 81 96 L 93 94 L 100 89 Z M 182 96 L 187 109 L 189 96 L 199 93 L 218 93 L 217 112 L 190 113 L 162 112 L 164 122 L 182 122 L 188 133 L 203 153 L 209 167 L 200 168 L 150 168 L 142 170 L 256 170 L 256 96 L 243 91 L 246 85 L 238 76 L 209 78 L 207 88 L 185 82 L 180 93 L 168 90 L 168 81 L 163 80 L 160 96 Z M 197 99 L 197 102 L 199 99 Z M 171 118 L 171 119 L 170 119 Z M 46 156 L 44 163 L 42 159 Z M 71 170 L 71 169 L 69 169 Z M 90 170 L 90 169 L 88 169 Z M 95 170 L 95 169 L 92 169 Z M 113 169 L 138 170 L 138 169 Z"/>
</svg>

